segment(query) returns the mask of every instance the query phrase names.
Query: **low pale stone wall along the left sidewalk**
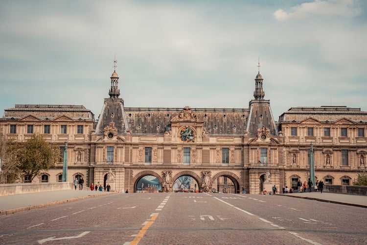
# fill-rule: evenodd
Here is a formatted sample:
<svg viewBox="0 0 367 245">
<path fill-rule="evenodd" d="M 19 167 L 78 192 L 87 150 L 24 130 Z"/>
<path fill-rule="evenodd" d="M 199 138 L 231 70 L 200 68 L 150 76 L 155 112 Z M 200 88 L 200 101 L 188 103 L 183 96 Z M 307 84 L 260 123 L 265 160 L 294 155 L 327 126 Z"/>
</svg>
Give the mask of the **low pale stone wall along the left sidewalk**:
<svg viewBox="0 0 367 245">
<path fill-rule="evenodd" d="M 69 182 L 1 184 L 0 196 L 71 189 L 72 183 Z"/>
</svg>

